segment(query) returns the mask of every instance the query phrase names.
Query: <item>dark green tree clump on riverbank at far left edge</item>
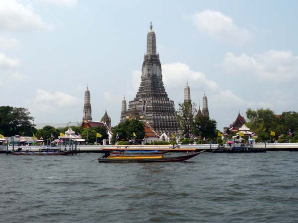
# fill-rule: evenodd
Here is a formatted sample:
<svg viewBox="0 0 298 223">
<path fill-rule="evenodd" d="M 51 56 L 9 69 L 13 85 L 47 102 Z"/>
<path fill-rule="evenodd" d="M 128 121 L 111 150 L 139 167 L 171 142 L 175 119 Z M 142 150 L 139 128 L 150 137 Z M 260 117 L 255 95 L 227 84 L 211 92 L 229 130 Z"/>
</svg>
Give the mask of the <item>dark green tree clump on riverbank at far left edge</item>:
<svg viewBox="0 0 298 223">
<path fill-rule="evenodd" d="M 32 136 L 36 131 L 33 121 L 34 118 L 25 108 L 0 107 L 0 134 L 4 136 Z"/>
</svg>

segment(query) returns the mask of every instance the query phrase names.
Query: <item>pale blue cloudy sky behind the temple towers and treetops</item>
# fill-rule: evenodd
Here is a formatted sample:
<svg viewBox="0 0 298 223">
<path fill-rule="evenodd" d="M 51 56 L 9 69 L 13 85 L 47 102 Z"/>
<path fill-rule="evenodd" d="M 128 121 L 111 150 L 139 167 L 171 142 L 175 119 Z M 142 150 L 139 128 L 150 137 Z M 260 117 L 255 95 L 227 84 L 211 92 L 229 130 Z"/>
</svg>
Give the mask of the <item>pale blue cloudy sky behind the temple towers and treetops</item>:
<svg viewBox="0 0 298 223">
<path fill-rule="evenodd" d="M 165 90 L 178 104 L 204 92 L 218 129 L 238 112 L 298 111 L 298 1 L 0 0 L 0 106 L 34 123 L 119 123 L 141 83 L 150 21 Z"/>
</svg>

